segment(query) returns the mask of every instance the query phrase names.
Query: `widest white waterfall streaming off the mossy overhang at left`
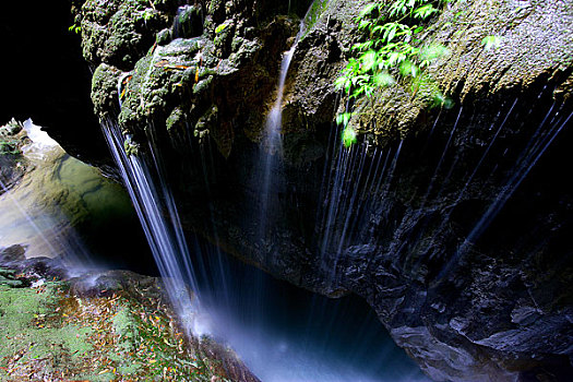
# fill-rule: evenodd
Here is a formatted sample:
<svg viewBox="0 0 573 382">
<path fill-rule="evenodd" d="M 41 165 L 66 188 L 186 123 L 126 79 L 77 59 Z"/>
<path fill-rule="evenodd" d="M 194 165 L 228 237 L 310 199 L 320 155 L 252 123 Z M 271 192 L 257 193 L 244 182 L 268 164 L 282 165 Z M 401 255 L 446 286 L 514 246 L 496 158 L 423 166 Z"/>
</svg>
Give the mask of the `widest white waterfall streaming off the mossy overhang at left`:
<svg viewBox="0 0 573 382">
<path fill-rule="evenodd" d="M 188 334 L 201 334 L 204 330 L 196 320 L 199 289 L 194 271 L 174 198 L 165 182 L 157 150 L 151 141 L 150 152 L 155 164 L 155 172 L 152 172 L 145 158 L 126 154 L 123 142 L 130 140 L 130 136 L 123 136 L 117 123 L 107 121 L 102 127 L 164 279 L 170 302 Z M 154 180 L 160 188 L 156 187 Z M 169 218 L 165 216 L 164 211 L 168 212 Z M 194 296 L 191 296 L 187 285 L 191 286 Z"/>
</svg>

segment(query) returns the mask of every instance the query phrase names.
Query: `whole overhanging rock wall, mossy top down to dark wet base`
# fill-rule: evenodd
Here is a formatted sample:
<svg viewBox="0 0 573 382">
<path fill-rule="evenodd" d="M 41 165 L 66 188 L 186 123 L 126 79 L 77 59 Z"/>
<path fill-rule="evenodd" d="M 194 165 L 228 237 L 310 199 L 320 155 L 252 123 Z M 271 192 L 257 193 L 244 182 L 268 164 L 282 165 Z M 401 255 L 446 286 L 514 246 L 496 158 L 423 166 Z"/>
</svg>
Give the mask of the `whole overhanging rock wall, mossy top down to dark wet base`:
<svg viewBox="0 0 573 382">
<path fill-rule="evenodd" d="M 430 72 L 457 105 L 381 89 L 356 105 L 351 150 L 331 128 L 345 104 L 332 84 L 362 2 L 317 2 L 268 167 L 259 142 L 297 22 L 267 1 L 108 2 L 77 9 L 96 112 L 135 142 L 154 132 L 188 229 L 299 286 L 362 296 L 435 380 L 572 373 L 569 2 L 455 2 L 429 36 L 452 52 Z M 141 35 L 126 41 L 110 21 L 128 9 L 156 24 L 124 21 Z M 488 35 L 506 45 L 485 51 Z"/>
</svg>

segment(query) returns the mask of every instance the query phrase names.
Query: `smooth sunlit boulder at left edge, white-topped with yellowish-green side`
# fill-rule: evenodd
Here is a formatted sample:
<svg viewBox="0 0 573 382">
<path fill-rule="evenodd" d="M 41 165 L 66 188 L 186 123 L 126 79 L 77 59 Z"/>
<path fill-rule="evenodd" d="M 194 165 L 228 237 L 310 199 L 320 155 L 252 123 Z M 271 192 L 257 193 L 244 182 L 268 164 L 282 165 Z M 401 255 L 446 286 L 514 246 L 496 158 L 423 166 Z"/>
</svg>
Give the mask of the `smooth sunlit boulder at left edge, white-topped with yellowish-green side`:
<svg viewBox="0 0 573 382">
<path fill-rule="evenodd" d="M 83 266 L 91 254 L 121 266 L 130 263 L 129 249 L 147 253 L 131 242 L 143 235 L 119 183 L 68 155 L 31 120 L 8 141 L 17 143 L 0 155 L 0 247 L 19 244 L 27 258 L 63 256 Z"/>
</svg>

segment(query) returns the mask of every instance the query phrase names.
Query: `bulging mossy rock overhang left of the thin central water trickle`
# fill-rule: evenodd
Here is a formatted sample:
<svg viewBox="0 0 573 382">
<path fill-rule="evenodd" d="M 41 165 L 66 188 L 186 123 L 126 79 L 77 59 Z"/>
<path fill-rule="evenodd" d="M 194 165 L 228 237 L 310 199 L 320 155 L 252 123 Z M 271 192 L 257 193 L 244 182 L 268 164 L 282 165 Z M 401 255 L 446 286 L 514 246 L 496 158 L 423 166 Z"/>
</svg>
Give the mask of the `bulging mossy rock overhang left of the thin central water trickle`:
<svg viewBox="0 0 573 382">
<path fill-rule="evenodd" d="M 297 27 L 275 17 L 271 2 L 86 1 L 75 11 L 84 57 L 97 65 L 100 120 L 119 114 L 135 139 L 153 122 L 176 146 L 210 138 L 224 156 L 237 126 L 260 139 L 280 52 Z"/>
</svg>

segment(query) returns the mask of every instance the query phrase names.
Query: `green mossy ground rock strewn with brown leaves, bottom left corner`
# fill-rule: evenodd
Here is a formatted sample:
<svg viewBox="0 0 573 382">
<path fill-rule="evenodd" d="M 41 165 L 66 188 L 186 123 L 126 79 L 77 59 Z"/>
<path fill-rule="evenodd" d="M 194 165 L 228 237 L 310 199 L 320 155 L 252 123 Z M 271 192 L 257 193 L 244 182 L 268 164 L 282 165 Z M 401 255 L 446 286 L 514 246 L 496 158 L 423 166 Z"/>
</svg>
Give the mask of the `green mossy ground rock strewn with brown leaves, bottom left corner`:
<svg viewBox="0 0 573 382">
<path fill-rule="evenodd" d="M 236 380 L 224 363 L 250 374 L 215 343 L 188 341 L 169 307 L 150 294 L 163 289 L 156 278 L 111 271 L 14 288 L 3 279 L 15 273 L 0 268 L 2 380 Z M 29 285 L 35 275 L 22 277 Z"/>
</svg>

